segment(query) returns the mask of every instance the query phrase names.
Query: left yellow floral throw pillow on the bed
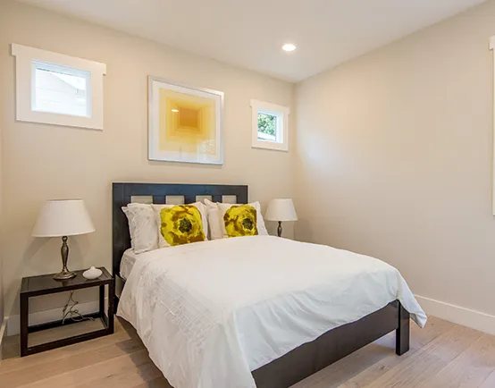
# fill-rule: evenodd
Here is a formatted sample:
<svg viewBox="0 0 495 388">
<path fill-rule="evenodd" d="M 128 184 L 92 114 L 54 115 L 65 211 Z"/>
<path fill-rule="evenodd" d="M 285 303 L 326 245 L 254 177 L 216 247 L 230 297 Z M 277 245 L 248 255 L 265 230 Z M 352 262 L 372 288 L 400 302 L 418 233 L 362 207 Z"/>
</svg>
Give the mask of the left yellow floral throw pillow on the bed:
<svg viewBox="0 0 495 388">
<path fill-rule="evenodd" d="M 201 213 L 192 205 L 164 207 L 160 211 L 160 233 L 172 247 L 206 240 Z"/>
</svg>

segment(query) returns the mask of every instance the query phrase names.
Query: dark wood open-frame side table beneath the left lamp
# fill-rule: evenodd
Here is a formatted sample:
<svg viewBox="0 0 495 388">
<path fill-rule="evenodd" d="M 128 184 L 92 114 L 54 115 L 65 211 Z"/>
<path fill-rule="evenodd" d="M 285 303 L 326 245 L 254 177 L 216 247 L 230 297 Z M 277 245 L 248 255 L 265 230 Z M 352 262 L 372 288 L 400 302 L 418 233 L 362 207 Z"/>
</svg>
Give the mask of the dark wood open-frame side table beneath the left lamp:
<svg viewBox="0 0 495 388">
<path fill-rule="evenodd" d="M 30 276 L 22 279 L 21 284 L 21 357 L 40 351 L 60 348 L 72 343 L 91 340 L 113 333 L 113 296 L 115 283 L 113 276 L 101 267 L 103 272 L 95 280 L 88 280 L 82 276 L 82 271 L 76 271 L 77 276 L 67 281 L 56 281 L 53 274 Z M 105 286 L 108 287 L 108 311 L 105 314 Z M 73 291 L 88 287 L 99 287 L 99 311 L 87 314 L 85 317 L 92 320 L 73 321 L 66 318 L 41 325 L 29 326 L 29 298 L 56 292 Z M 61 316 L 62 318 L 62 316 Z M 67 330 L 66 326 L 71 326 Z M 43 335 L 45 333 L 45 341 Z M 63 334 L 66 335 L 63 335 Z M 75 335 L 74 335 L 75 333 Z M 67 336 L 67 334 L 71 336 Z M 33 338 L 35 337 L 35 338 Z M 46 340 L 48 339 L 48 340 Z"/>
</svg>

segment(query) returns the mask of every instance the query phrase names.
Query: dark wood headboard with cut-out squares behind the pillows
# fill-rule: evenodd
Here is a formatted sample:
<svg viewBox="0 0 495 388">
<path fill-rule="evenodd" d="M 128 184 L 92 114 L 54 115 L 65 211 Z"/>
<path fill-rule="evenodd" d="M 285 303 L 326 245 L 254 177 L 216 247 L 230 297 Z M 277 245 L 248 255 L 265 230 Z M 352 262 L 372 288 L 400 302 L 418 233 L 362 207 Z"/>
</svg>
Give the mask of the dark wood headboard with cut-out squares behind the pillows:
<svg viewBox="0 0 495 388">
<path fill-rule="evenodd" d="M 221 184 L 113 183 L 112 185 L 112 260 L 113 275 L 120 274 L 122 255 L 130 248 L 127 217 L 122 212 L 132 197 L 151 197 L 154 204 L 166 203 L 167 196 L 184 196 L 184 203 L 196 202 L 197 196 L 211 196 L 222 202 L 222 196 L 236 196 L 237 203 L 248 203 L 248 186 Z"/>
</svg>

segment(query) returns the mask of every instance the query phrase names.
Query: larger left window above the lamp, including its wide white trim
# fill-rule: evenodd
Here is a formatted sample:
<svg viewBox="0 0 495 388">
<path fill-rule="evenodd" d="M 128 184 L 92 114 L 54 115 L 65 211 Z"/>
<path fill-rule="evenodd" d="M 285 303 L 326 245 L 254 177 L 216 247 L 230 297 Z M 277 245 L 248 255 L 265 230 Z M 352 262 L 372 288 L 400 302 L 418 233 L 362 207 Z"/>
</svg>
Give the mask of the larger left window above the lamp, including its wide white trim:
<svg viewBox="0 0 495 388">
<path fill-rule="evenodd" d="M 13 55 L 17 120 L 103 130 L 105 64 L 14 44 Z"/>
</svg>

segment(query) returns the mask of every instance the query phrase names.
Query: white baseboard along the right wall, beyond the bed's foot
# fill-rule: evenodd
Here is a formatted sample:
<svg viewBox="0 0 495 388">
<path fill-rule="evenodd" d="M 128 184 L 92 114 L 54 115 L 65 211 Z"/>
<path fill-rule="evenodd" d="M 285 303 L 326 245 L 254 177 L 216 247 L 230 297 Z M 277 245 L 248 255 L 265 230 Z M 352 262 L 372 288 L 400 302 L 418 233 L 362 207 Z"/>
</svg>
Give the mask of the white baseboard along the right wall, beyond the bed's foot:
<svg viewBox="0 0 495 388">
<path fill-rule="evenodd" d="M 495 316 L 419 295 L 415 295 L 415 298 L 428 315 L 495 335 Z"/>
</svg>

